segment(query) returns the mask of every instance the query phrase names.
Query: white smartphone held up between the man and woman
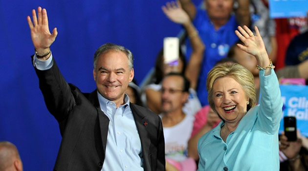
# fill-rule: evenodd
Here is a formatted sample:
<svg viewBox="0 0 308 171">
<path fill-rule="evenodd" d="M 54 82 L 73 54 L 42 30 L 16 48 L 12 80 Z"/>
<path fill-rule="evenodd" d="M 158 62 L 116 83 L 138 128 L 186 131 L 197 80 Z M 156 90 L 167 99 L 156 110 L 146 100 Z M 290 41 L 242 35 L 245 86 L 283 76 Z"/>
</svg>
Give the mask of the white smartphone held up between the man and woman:
<svg viewBox="0 0 308 171">
<path fill-rule="evenodd" d="M 178 60 L 179 40 L 176 37 L 164 38 L 164 63 L 173 64 Z"/>
</svg>

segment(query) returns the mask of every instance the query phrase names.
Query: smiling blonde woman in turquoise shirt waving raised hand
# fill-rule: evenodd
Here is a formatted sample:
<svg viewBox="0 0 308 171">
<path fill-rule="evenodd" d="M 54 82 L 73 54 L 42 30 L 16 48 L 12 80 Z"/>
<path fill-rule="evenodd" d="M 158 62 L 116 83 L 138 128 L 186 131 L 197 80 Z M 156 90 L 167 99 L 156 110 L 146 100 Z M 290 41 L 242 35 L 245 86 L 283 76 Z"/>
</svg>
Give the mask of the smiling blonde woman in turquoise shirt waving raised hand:
<svg viewBox="0 0 308 171">
<path fill-rule="evenodd" d="M 262 97 L 256 106 L 253 75 L 240 64 L 221 64 L 209 72 L 209 104 L 222 121 L 199 139 L 198 171 L 279 170 L 283 102 L 278 79 L 258 28 L 256 35 L 247 26 L 238 30 L 244 43 L 239 48 L 257 59 Z"/>
</svg>

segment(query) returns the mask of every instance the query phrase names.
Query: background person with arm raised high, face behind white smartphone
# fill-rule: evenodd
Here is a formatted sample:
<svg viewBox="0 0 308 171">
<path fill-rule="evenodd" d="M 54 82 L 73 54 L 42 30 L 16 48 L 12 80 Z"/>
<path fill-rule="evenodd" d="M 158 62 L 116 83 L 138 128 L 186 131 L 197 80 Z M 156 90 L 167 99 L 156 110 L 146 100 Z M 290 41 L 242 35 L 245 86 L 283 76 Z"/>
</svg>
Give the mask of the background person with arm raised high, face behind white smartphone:
<svg viewBox="0 0 308 171">
<path fill-rule="evenodd" d="M 194 115 L 199 109 L 201 109 L 201 104 L 195 89 L 198 83 L 199 71 L 205 47 L 198 35 L 197 29 L 178 1 L 167 2 L 167 4 L 162 7 L 162 10 L 171 21 L 183 25 L 188 37 L 190 38 L 190 42 L 193 45 L 193 52 L 188 64 L 186 64 L 185 56 L 180 49 L 177 49 L 179 51 L 177 61 L 175 63 L 165 64 L 164 52 L 161 50 L 158 53 L 155 62 L 154 80 L 151 84 L 144 86 L 144 92 L 141 99 L 152 111 L 157 114 L 161 113 L 161 81 L 168 73 L 182 73 L 190 82 L 190 95 L 183 110 L 186 114 Z"/>
</svg>

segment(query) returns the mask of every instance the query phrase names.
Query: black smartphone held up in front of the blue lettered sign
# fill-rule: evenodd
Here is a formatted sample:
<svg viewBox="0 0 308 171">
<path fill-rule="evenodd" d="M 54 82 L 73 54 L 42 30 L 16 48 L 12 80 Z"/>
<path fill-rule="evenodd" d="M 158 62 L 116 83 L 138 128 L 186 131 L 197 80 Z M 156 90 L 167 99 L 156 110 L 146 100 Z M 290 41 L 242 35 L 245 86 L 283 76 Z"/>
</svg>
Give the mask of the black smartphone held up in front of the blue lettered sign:
<svg viewBox="0 0 308 171">
<path fill-rule="evenodd" d="M 284 127 L 287 141 L 296 141 L 296 118 L 294 116 L 285 116 Z"/>
</svg>

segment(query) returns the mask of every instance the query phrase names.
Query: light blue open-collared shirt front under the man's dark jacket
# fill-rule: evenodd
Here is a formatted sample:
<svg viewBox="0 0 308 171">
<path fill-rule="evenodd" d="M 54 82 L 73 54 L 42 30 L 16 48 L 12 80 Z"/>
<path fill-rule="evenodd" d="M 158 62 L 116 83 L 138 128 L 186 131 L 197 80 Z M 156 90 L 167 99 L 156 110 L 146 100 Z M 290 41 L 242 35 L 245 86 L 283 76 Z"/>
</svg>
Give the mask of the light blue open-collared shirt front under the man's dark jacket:
<svg viewBox="0 0 308 171">
<path fill-rule="evenodd" d="M 141 141 L 129 96 L 125 94 L 125 104 L 118 108 L 101 94 L 97 96 L 102 111 L 110 120 L 102 171 L 143 171 Z"/>
</svg>

